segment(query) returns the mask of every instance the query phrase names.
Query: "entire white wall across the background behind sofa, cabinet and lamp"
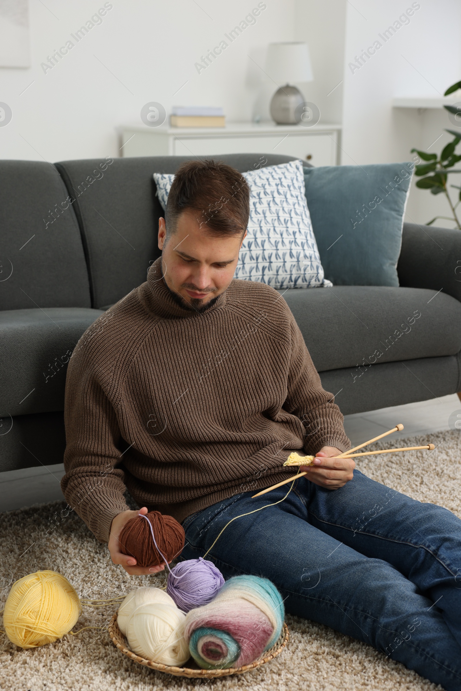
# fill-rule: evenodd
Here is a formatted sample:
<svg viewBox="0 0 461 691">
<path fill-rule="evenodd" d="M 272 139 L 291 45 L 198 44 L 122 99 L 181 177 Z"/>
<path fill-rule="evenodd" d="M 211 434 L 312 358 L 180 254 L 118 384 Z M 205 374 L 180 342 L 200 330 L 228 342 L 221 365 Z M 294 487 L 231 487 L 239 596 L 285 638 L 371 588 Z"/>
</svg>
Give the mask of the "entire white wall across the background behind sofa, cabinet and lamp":
<svg viewBox="0 0 461 691">
<path fill-rule="evenodd" d="M 117 156 L 115 128 L 141 124 L 140 110 L 150 101 L 167 113 L 176 104 L 218 105 L 229 121 L 268 120 L 276 85 L 261 68 L 271 41 L 308 41 L 314 82 L 299 86 L 319 106 L 321 122 L 342 120 L 343 164 L 409 160 L 412 146 L 428 149 L 451 126 L 445 111 L 418 113 L 391 102 L 399 95 L 438 95 L 461 78 L 459 0 L 421 0 L 410 23 L 386 43 L 379 33 L 412 0 L 265 0 L 256 23 L 200 74 L 196 61 L 258 0 L 111 4 L 77 43 L 70 35 L 104 0 L 30 0 L 31 67 L 0 68 L 0 100 L 13 114 L 0 127 L 1 158 Z M 69 39 L 75 46 L 44 73 L 41 62 Z M 376 40 L 382 48 L 352 73 L 348 64 Z M 431 151 L 448 140 L 442 134 Z M 424 223 L 446 209 L 442 196 L 412 189 L 407 220 Z"/>
</svg>

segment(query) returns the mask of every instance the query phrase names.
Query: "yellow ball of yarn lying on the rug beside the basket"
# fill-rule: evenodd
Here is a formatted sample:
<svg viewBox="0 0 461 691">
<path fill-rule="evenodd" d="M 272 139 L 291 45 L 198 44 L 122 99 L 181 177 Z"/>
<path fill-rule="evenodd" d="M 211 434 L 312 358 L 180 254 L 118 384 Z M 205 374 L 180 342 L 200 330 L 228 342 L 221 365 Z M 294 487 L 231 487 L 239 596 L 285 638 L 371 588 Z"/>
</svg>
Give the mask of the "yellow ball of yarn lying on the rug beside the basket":
<svg viewBox="0 0 461 691">
<path fill-rule="evenodd" d="M 81 610 L 77 593 L 64 576 L 55 571 L 36 571 L 12 586 L 3 625 L 15 645 L 37 647 L 67 634 Z"/>
</svg>

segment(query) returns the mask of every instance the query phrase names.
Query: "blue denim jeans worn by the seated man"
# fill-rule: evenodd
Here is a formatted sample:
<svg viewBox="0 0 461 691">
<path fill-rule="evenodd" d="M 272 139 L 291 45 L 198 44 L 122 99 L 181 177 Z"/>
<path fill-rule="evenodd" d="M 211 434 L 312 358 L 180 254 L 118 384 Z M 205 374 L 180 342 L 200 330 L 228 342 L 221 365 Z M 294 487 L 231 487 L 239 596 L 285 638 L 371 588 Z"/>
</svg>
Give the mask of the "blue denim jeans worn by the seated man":
<svg viewBox="0 0 461 691">
<path fill-rule="evenodd" d="M 234 516 L 290 485 L 245 492 L 182 523 L 182 558 L 204 556 Z M 234 520 L 207 555 L 225 578 L 265 576 L 291 614 L 373 645 L 446 691 L 461 690 L 461 520 L 359 471 L 331 491 L 305 477 Z M 364 674 L 382 663 L 375 659 Z"/>
</svg>

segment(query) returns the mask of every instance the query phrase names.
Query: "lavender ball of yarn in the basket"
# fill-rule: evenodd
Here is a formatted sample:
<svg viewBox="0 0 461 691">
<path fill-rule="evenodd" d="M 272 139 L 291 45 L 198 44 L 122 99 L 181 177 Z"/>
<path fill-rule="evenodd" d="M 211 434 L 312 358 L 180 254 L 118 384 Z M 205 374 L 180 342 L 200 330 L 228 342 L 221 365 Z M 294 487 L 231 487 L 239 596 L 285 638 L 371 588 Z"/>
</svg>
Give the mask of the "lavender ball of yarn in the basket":
<svg viewBox="0 0 461 691">
<path fill-rule="evenodd" d="M 168 574 L 167 593 L 182 612 L 207 605 L 224 585 L 223 574 L 206 559 L 179 562 Z"/>
</svg>

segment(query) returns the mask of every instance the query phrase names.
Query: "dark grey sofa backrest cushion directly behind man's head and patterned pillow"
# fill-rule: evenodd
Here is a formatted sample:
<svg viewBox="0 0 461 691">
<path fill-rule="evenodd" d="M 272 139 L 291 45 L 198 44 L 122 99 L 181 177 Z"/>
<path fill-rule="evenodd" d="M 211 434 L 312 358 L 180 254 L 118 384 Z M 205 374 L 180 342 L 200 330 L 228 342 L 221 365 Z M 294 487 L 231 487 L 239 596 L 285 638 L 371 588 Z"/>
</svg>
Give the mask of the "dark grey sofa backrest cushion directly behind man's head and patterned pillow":
<svg viewBox="0 0 461 691">
<path fill-rule="evenodd" d="M 153 173 L 175 173 L 189 156 L 77 160 L 56 164 L 74 195 L 73 207 L 91 283 L 92 306 L 106 307 L 144 283 L 160 255 Z M 292 156 L 236 153 L 215 156 L 242 173 L 296 160 Z"/>
</svg>

